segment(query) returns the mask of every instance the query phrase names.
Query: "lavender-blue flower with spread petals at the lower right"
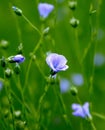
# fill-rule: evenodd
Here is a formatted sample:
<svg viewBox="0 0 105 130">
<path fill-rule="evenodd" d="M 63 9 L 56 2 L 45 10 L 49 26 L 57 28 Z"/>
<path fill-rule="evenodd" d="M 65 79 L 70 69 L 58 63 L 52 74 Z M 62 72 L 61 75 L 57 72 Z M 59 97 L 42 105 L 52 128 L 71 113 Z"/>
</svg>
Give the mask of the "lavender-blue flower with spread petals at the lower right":
<svg viewBox="0 0 105 130">
<path fill-rule="evenodd" d="M 72 113 L 74 116 L 79 116 L 82 118 L 89 118 L 92 119 L 92 116 L 89 112 L 89 103 L 86 102 L 83 106 L 80 104 L 72 104 L 72 109 L 74 112 Z"/>
</svg>

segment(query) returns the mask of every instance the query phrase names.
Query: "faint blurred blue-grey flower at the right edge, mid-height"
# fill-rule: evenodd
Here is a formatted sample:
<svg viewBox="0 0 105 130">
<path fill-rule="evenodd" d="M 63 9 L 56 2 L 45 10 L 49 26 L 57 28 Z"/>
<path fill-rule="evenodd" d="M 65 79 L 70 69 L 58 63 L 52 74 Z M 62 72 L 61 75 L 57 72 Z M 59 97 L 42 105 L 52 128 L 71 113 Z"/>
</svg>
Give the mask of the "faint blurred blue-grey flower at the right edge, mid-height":
<svg viewBox="0 0 105 130">
<path fill-rule="evenodd" d="M 105 57 L 101 53 L 96 53 L 94 56 L 94 65 L 102 66 L 105 63 Z"/>
</svg>

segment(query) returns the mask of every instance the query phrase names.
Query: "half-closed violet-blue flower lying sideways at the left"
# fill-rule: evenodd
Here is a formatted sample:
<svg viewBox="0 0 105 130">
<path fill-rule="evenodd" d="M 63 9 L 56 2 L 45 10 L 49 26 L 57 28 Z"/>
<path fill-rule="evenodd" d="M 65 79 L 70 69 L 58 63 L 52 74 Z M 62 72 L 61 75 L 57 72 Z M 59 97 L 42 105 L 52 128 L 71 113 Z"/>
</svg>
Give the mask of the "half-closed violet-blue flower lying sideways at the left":
<svg viewBox="0 0 105 130">
<path fill-rule="evenodd" d="M 25 57 L 21 54 L 18 54 L 18 55 L 15 55 L 15 56 L 10 56 L 8 58 L 8 61 L 10 63 L 14 63 L 14 62 L 22 63 L 22 62 L 24 62 L 24 60 L 25 60 Z"/>
</svg>

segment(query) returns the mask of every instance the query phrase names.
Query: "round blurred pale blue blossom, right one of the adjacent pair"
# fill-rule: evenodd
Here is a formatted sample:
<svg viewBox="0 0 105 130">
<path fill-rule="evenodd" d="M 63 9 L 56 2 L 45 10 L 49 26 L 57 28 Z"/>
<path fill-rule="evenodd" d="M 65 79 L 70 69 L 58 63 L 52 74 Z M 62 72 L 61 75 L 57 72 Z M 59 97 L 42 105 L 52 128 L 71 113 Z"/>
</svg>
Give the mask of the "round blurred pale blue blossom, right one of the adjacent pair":
<svg viewBox="0 0 105 130">
<path fill-rule="evenodd" d="M 82 74 L 73 74 L 71 78 L 72 78 L 73 84 L 76 86 L 82 86 L 84 83 Z"/>
</svg>

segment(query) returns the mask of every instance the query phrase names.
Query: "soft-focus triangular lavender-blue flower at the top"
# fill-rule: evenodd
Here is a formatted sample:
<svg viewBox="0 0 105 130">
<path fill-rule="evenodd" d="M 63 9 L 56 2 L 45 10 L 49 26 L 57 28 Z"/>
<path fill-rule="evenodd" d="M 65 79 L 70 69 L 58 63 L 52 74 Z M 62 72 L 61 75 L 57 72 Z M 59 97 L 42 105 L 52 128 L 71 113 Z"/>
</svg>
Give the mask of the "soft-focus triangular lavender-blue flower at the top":
<svg viewBox="0 0 105 130">
<path fill-rule="evenodd" d="M 41 17 L 47 18 L 48 15 L 53 11 L 54 6 L 48 3 L 39 3 L 38 11 Z"/>
</svg>

